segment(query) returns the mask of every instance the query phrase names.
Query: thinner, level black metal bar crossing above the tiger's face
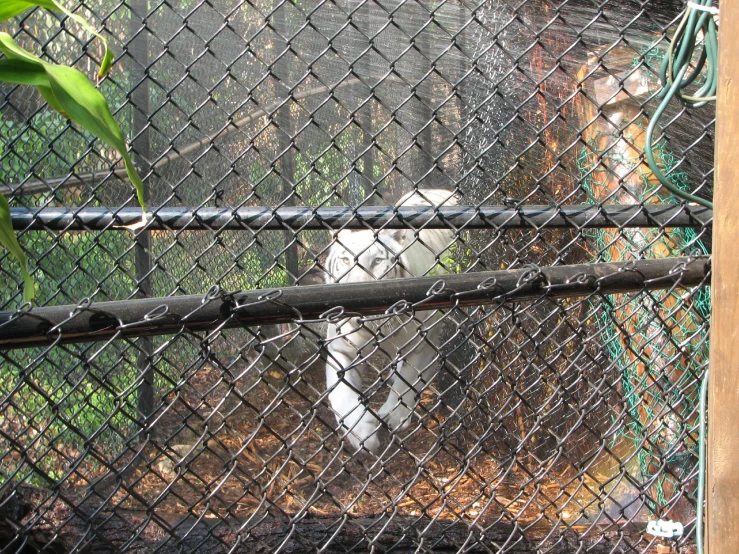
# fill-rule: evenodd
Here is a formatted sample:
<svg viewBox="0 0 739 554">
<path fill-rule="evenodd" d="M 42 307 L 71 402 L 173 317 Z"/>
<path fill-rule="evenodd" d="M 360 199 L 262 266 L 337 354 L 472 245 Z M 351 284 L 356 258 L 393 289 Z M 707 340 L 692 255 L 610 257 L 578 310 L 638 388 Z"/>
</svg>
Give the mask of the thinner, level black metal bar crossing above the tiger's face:
<svg viewBox="0 0 739 554">
<path fill-rule="evenodd" d="M 141 220 L 139 208 L 10 210 L 16 230 L 124 229 Z M 712 210 L 702 206 L 382 206 L 362 208 L 159 208 L 147 229 L 399 229 L 702 227 Z"/>
</svg>

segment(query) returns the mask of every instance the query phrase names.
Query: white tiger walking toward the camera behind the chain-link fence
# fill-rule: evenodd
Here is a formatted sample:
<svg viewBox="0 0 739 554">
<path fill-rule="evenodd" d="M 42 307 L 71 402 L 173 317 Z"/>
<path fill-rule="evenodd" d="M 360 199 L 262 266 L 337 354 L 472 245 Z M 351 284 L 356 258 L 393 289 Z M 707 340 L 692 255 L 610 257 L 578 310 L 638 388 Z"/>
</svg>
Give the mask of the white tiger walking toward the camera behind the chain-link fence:
<svg viewBox="0 0 739 554">
<path fill-rule="evenodd" d="M 448 190 L 418 190 L 405 195 L 398 206 L 451 206 Z M 327 282 L 357 283 L 377 279 L 421 277 L 445 273 L 439 257 L 454 241 L 448 229 L 344 230 L 337 233 L 326 261 Z M 329 401 L 346 438 L 357 450 L 379 454 L 381 418 L 398 431 L 410 423 L 423 390 L 434 377 L 440 325 L 435 311 L 415 316 L 379 319 L 379 324 L 347 318 L 328 326 L 326 386 Z M 394 362 L 390 392 L 382 408 L 373 413 L 362 402 L 362 376 L 358 366 L 380 348 Z"/>
</svg>

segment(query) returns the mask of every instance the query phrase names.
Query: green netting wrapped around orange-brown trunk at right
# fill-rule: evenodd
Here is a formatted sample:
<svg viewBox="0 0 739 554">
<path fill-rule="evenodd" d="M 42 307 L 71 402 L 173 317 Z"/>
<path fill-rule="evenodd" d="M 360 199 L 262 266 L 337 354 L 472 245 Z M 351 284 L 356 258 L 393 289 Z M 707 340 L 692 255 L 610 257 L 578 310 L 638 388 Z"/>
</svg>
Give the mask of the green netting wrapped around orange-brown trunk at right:
<svg viewBox="0 0 739 554">
<path fill-rule="evenodd" d="M 605 142 L 599 140 L 606 138 Z M 638 156 L 617 148 L 599 149 L 624 140 L 615 132 L 596 134 L 578 157 L 585 175 L 583 187 L 588 201 L 618 204 L 678 203 L 665 193 Z M 657 159 L 672 182 L 687 188 L 687 175 L 672 171 L 677 159 L 665 141 L 657 145 Z M 595 164 L 609 168 L 594 172 Z M 600 169 L 600 168 L 599 168 Z M 619 182 L 618 174 L 629 175 Z M 618 183 L 618 188 L 609 187 Z M 585 231 L 593 261 L 625 261 L 690 254 L 707 254 L 696 231 L 689 229 L 620 229 Z M 655 294 L 609 295 L 595 310 L 609 359 L 622 374 L 623 394 L 629 422 L 622 437 L 633 441 L 641 477 L 651 483 L 654 498 L 650 508 L 659 511 L 678 492 L 678 481 L 695 465 L 699 378 L 708 362 L 705 321 L 711 310 L 709 287 L 685 294 L 669 291 Z"/>
</svg>

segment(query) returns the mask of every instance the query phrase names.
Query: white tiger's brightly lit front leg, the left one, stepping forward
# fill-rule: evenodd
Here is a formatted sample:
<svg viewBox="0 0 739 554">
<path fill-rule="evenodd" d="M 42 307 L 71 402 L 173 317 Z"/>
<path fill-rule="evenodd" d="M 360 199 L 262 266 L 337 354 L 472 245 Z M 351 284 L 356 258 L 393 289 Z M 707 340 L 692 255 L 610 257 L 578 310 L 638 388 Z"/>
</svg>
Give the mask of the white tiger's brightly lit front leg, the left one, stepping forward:
<svg viewBox="0 0 739 554">
<path fill-rule="evenodd" d="M 342 330 L 346 324 L 342 326 Z M 346 431 L 346 438 L 357 450 L 362 448 L 374 454 L 381 452 L 379 429 L 381 421 L 362 403 L 362 377 L 355 360 L 358 349 L 352 335 L 337 336 L 336 326 L 329 325 L 328 360 L 326 361 L 326 390 L 336 421 Z M 358 338 L 358 337 L 356 337 Z"/>
</svg>

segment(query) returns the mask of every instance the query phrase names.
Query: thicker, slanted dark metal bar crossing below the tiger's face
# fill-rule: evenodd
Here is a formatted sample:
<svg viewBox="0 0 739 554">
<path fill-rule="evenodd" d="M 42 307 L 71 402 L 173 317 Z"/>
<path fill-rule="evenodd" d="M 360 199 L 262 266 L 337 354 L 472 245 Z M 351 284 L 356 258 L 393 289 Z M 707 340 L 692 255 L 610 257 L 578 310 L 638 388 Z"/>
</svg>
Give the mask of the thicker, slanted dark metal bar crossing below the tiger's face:
<svg viewBox="0 0 739 554">
<path fill-rule="evenodd" d="M 168 335 L 215 328 L 310 320 L 326 312 L 374 315 L 405 307 L 443 309 L 551 297 L 610 294 L 707 284 L 710 258 L 665 258 L 617 263 L 486 271 L 219 293 L 131 299 L 79 306 L 0 312 L 0 348 L 46 346 L 112 338 Z M 334 312 L 334 317 L 339 317 Z"/>
</svg>

